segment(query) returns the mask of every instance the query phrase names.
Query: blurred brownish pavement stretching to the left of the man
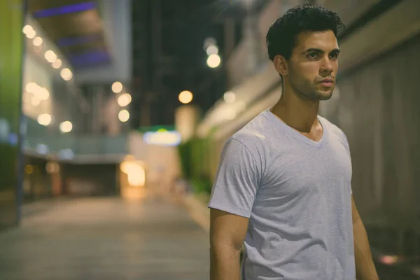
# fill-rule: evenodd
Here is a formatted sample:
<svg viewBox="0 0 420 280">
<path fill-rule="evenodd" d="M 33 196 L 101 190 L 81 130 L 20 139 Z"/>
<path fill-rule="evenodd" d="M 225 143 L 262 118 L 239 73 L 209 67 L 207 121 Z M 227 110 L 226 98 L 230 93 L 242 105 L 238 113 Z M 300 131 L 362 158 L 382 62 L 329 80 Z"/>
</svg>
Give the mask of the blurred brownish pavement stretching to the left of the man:
<svg viewBox="0 0 420 280">
<path fill-rule="evenodd" d="M 207 233 L 158 198 L 64 200 L 0 232 L 0 280 L 209 279 Z"/>
</svg>

